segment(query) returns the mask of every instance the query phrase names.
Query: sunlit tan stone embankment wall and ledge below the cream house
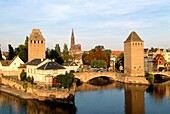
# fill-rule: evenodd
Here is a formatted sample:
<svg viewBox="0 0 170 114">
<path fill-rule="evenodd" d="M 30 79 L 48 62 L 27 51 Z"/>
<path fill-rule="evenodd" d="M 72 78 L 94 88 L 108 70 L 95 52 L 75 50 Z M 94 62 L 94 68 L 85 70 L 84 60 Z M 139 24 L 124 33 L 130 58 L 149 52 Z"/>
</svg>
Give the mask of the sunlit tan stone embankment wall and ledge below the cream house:
<svg viewBox="0 0 170 114">
<path fill-rule="evenodd" d="M 68 91 L 68 89 L 61 90 L 42 90 L 37 89 L 33 86 L 28 86 L 27 89 L 23 88 L 22 83 L 19 83 L 12 79 L 7 79 L 1 77 L 2 84 L 0 86 L 0 91 L 12 94 L 14 96 L 23 98 L 23 99 L 37 99 L 40 101 L 45 100 L 59 100 L 59 99 L 68 99 L 71 96 L 74 96 L 74 91 Z"/>
</svg>

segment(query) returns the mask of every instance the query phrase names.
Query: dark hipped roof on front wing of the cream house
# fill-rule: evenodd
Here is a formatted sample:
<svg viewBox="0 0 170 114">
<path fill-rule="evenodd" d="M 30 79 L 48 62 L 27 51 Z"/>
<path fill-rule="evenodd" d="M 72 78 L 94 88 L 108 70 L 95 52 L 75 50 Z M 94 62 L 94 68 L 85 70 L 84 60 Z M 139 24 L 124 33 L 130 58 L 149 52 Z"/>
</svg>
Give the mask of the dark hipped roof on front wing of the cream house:
<svg viewBox="0 0 170 114">
<path fill-rule="evenodd" d="M 47 62 L 44 65 L 37 68 L 38 70 L 57 70 L 57 69 L 65 69 L 63 66 L 58 64 L 57 62 Z"/>
</svg>

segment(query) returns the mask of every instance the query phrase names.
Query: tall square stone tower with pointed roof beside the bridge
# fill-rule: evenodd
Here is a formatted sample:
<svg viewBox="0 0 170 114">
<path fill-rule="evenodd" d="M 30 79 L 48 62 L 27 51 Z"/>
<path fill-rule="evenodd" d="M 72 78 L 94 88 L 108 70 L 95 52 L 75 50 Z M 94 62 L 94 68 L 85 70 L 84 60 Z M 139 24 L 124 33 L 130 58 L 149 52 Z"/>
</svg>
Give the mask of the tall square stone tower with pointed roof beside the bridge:
<svg viewBox="0 0 170 114">
<path fill-rule="evenodd" d="M 124 73 L 144 76 L 144 41 L 136 32 L 131 32 L 124 42 Z"/>
</svg>

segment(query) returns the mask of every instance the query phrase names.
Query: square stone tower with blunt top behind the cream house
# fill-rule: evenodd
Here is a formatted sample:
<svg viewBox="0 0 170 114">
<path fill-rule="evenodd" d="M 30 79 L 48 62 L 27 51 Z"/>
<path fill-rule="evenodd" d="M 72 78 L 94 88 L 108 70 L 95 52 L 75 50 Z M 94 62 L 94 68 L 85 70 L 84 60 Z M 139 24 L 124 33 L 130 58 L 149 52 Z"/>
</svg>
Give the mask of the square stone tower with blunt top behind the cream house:
<svg viewBox="0 0 170 114">
<path fill-rule="evenodd" d="M 39 29 L 33 29 L 28 39 L 28 61 L 45 59 L 45 39 Z"/>
</svg>

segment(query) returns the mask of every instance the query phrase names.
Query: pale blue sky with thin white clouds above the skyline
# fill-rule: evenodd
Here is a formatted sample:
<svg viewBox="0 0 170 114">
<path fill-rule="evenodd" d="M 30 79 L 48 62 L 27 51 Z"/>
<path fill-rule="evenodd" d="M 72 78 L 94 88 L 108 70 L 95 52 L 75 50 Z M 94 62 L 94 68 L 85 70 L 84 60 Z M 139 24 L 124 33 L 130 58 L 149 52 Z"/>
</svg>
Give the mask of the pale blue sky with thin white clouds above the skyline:
<svg viewBox="0 0 170 114">
<path fill-rule="evenodd" d="M 145 48 L 170 48 L 170 0 L 0 0 L 2 51 L 23 44 L 33 28 L 49 48 L 70 48 L 72 28 L 84 51 L 96 45 L 123 50 L 132 31 Z"/>
</svg>

